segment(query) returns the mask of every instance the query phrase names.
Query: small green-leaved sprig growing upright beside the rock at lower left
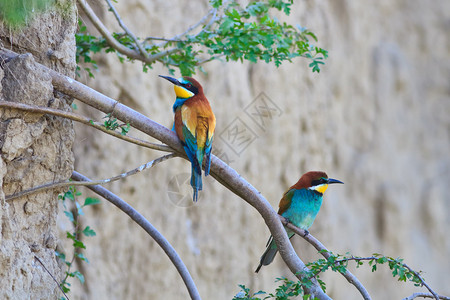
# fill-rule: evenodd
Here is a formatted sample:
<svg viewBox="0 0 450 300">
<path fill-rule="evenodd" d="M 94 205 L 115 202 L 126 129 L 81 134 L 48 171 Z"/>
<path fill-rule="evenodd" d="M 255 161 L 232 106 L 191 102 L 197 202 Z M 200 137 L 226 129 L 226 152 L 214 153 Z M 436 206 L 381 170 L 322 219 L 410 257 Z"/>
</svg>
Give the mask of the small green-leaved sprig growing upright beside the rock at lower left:
<svg viewBox="0 0 450 300">
<path fill-rule="evenodd" d="M 78 192 L 75 187 L 71 186 L 69 187 L 69 190 L 65 192 L 62 195 L 59 195 L 58 198 L 62 200 L 62 204 L 64 206 L 64 214 L 69 219 L 69 221 L 73 225 L 73 231 L 67 231 L 66 236 L 69 240 L 72 241 L 73 246 L 73 255 L 71 258 L 67 258 L 66 254 L 61 251 L 55 251 L 56 256 L 61 259 L 67 266 L 67 270 L 65 271 L 65 277 L 60 283 L 61 289 L 64 291 L 64 293 L 67 293 L 70 291 L 71 284 L 69 283 L 68 279 L 70 278 L 77 278 L 82 284 L 84 284 L 84 275 L 78 271 L 78 270 L 72 270 L 73 263 L 75 259 L 79 259 L 80 261 L 84 261 L 86 263 L 89 263 L 89 260 L 86 258 L 86 256 L 81 252 L 82 249 L 86 249 L 86 246 L 81 241 L 82 237 L 90 237 L 95 236 L 95 231 L 90 227 L 86 226 L 85 228 L 81 229 L 79 225 L 79 218 L 80 216 L 84 215 L 83 208 L 90 205 L 95 205 L 100 203 L 100 200 L 97 198 L 86 198 L 84 200 L 83 204 L 80 204 L 78 202 L 77 197 L 80 196 L 81 193 Z M 70 210 L 69 204 L 71 204 L 71 207 L 73 207 L 73 210 Z M 63 300 L 64 297 L 61 297 L 60 300 Z"/>
</svg>

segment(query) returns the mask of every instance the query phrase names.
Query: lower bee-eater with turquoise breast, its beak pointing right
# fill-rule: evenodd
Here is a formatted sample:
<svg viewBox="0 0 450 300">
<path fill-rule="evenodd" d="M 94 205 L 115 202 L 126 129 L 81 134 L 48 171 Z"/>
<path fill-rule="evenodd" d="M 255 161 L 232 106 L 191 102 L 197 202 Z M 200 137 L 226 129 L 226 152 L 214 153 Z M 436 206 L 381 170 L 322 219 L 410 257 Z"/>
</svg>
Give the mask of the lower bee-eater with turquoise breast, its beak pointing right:
<svg viewBox="0 0 450 300">
<path fill-rule="evenodd" d="M 329 184 L 343 183 L 342 181 L 328 178 L 325 172 L 311 171 L 300 177 L 296 184 L 291 186 L 284 193 L 280 200 L 278 214 L 285 217 L 290 223 L 306 230 L 308 233 L 317 213 L 322 205 L 323 193 Z M 289 238 L 294 236 L 294 232 L 286 228 Z M 273 237 L 270 236 L 267 242 L 267 249 L 261 256 L 259 266 L 256 269 L 258 273 L 262 266 L 270 264 L 278 249 Z"/>
</svg>

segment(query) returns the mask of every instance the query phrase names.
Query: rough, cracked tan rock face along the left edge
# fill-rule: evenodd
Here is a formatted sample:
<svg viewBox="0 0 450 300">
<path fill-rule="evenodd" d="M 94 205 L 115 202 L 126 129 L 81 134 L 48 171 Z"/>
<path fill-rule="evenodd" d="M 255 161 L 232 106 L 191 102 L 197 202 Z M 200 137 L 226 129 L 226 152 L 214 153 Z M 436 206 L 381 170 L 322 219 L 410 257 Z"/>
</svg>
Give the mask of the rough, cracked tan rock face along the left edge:
<svg viewBox="0 0 450 300">
<path fill-rule="evenodd" d="M 18 31 L 0 25 L 0 46 L 33 54 L 2 62 L 1 100 L 70 110 L 69 99 L 53 93 L 50 76 L 35 62 L 36 58 L 59 72 L 74 75 L 75 8 L 71 1 L 57 3 L 72 9 L 64 14 L 57 9 L 40 14 Z M 57 280 L 62 279 L 62 266 L 54 252 L 59 234 L 59 191 L 9 202 L 5 195 L 68 179 L 73 170 L 73 140 L 71 121 L 0 109 L 0 299 L 61 296 L 58 284 L 43 267 Z"/>
</svg>

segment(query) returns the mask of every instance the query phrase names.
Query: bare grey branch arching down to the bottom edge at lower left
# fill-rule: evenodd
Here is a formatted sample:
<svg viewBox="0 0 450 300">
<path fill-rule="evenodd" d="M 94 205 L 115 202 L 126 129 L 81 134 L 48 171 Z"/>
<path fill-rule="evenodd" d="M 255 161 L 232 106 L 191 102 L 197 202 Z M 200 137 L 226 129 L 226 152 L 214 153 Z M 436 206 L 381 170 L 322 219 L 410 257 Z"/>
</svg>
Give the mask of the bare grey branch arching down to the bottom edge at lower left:
<svg viewBox="0 0 450 300">
<path fill-rule="evenodd" d="M 89 178 L 83 176 L 78 172 L 73 172 L 72 179 L 83 182 L 90 180 Z M 88 188 L 117 206 L 117 208 L 126 213 L 133 221 L 141 226 L 158 243 L 158 245 L 164 250 L 164 252 L 166 252 L 167 256 L 172 261 L 181 278 L 183 279 L 184 284 L 188 289 L 189 295 L 191 296 L 191 299 L 201 299 L 194 280 L 192 279 L 191 274 L 189 273 L 186 265 L 183 263 L 178 253 L 166 240 L 166 238 L 161 233 L 159 233 L 159 231 L 143 215 L 141 215 L 127 202 L 111 193 L 104 187 L 93 185 L 89 186 Z"/>
</svg>

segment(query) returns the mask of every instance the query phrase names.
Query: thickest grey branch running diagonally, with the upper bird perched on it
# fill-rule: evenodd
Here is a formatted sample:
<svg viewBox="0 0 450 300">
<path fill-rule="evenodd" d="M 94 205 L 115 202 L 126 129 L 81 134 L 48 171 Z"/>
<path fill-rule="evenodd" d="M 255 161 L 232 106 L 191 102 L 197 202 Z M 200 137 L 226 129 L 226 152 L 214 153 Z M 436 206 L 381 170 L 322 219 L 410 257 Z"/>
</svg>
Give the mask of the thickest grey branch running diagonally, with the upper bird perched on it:
<svg viewBox="0 0 450 300">
<path fill-rule="evenodd" d="M 0 50 L 0 57 L 7 58 L 14 56 L 17 56 L 14 52 L 6 49 Z M 45 72 L 52 77 L 52 83 L 55 89 L 66 95 L 77 98 L 105 113 L 113 113 L 117 119 L 124 123 L 130 123 L 131 126 L 168 145 L 174 149 L 177 155 L 187 159 L 180 140 L 176 134 L 168 128 L 70 77 L 48 69 L 43 65 L 36 65 L 42 68 L 42 70 L 45 70 Z M 283 224 L 270 203 L 258 190 L 248 183 L 247 180 L 214 155 L 211 155 L 211 175 L 219 182 L 225 182 L 230 191 L 244 199 L 261 214 L 274 237 L 282 259 L 285 261 L 291 272 L 301 279 L 301 276 L 303 275 L 301 275 L 299 271 L 308 270 L 308 268 L 295 253 L 294 248 L 289 242 L 287 233 L 284 230 Z M 331 299 L 322 291 L 315 279 L 313 279 L 311 287 L 304 287 L 304 291 L 306 294 L 310 294 L 321 300 Z"/>
</svg>

